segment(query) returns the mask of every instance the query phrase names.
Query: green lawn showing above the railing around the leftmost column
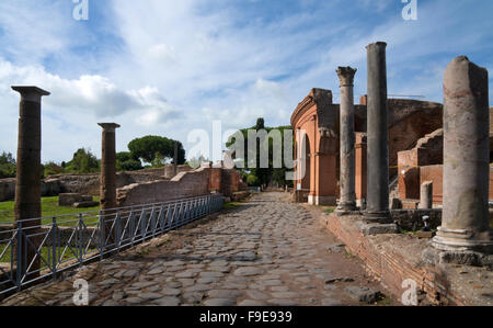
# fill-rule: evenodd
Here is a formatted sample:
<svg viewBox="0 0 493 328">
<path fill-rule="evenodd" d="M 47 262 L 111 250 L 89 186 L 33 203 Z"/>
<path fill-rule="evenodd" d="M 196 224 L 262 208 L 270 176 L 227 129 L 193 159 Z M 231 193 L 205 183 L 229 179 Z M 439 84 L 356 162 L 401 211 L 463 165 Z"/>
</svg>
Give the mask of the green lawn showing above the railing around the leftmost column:
<svg viewBox="0 0 493 328">
<path fill-rule="evenodd" d="M 93 197 L 99 201 L 99 197 Z M 0 202 L 0 224 L 13 223 L 14 202 Z M 42 216 L 50 217 L 66 214 L 79 214 L 100 210 L 99 206 L 89 208 L 73 208 L 70 206 L 58 206 L 58 196 L 42 199 Z M 43 224 L 50 223 L 51 219 L 44 219 Z"/>
</svg>

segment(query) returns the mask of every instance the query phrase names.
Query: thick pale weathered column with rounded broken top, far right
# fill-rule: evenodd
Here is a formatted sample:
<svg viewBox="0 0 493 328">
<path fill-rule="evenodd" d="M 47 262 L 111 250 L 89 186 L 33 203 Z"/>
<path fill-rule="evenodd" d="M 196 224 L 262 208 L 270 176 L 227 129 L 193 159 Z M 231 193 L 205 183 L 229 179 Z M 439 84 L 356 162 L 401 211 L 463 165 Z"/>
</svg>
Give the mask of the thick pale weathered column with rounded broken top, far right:
<svg viewBox="0 0 493 328">
<path fill-rule="evenodd" d="M 489 176 L 488 70 L 460 56 L 444 77 L 444 213 L 435 248 L 451 253 L 493 251 Z"/>
</svg>

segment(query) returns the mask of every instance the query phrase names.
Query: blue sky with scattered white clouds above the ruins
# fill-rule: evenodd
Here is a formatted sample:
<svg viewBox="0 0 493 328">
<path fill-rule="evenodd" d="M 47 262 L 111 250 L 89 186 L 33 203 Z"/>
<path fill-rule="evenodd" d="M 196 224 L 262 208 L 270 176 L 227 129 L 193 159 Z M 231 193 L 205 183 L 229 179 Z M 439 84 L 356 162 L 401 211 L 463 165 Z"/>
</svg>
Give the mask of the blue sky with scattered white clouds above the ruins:
<svg viewBox="0 0 493 328">
<path fill-rule="evenodd" d="M 15 154 L 19 94 L 43 100 L 43 160 L 70 160 L 80 147 L 100 156 L 98 122 L 116 122 L 117 150 L 145 135 L 180 139 L 194 129 L 287 125 L 311 88 L 334 91 L 337 66 L 358 68 L 365 46 L 388 43 L 390 94 L 442 102 L 447 64 L 467 55 L 493 82 L 493 1 L 417 0 L 72 0 L 0 1 L 0 151 Z M 490 103 L 493 104 L 493 92 Z M 205 150 L 204 150 L 205 152 Z M 206 154 L 207 155 L 207 154 Z"/>
</svg>

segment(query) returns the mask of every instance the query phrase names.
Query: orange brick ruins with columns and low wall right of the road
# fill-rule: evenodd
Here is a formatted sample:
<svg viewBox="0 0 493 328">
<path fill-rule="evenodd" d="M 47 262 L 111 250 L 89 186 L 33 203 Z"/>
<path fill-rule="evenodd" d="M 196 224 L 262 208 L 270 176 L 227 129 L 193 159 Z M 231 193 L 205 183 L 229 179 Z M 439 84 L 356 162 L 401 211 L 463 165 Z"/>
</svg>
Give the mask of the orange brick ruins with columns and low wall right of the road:
<svg viewBox="0 0 493 328">
<path fill-rule="evenodd" d="M 488 71 L 460 56 L 445 71 L 444 105 L 392 100 L 386 46 L 367 46 L 368 95 L 359 105 L 356 69 L 340 67 L 341 105 L 331 91 L 313 89 L 295 110 L 291 124 L 306 134 L 296 140 L 303 166 L 294 199 L 339 200 L 323 224 L 394 294 L 413 280 L 434 303 L 491 304 L 463 278 L 491 286 L 481 279 L 493 268 Z"/>
</svg>

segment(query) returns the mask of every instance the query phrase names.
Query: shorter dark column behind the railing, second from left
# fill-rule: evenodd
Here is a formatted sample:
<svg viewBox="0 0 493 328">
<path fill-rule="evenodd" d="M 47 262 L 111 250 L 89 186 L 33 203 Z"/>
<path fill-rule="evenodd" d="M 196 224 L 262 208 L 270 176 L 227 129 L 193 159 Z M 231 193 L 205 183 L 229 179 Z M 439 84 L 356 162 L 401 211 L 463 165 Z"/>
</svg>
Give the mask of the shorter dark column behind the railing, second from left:
<svg viewBox="0 0 493 328">
<path fill-rule="evenodd" d="M 114 213 L 108 211 L 116 208 L 116 128 L 119 127 L 115 123 L 99 123 L 103 128 L 102 137 L 102 156 L 101 156 L 101 180 L 100 180 L 100 210 L 103 212 L 101 218 L 103 234 L 105 240 L 108 237 L 113 220 L 115 219 Z M 108 242 L 114 240 L 114 234 L 111 234 L 112 238 Z"/>
</svg>

